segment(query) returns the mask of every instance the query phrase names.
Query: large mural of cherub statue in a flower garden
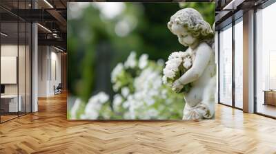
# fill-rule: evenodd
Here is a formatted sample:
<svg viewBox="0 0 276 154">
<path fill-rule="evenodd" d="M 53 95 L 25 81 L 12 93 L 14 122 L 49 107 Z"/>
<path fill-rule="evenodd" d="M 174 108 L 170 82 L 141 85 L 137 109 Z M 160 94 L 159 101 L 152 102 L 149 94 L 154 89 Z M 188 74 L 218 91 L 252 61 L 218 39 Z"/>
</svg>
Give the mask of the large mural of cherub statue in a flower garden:
<svg viewBox="0 0 276 154">
<path fill-rule="evenodd" d="M 215 3 L 68 3 L 69 120 L 215 118 Z"/>
</svg>

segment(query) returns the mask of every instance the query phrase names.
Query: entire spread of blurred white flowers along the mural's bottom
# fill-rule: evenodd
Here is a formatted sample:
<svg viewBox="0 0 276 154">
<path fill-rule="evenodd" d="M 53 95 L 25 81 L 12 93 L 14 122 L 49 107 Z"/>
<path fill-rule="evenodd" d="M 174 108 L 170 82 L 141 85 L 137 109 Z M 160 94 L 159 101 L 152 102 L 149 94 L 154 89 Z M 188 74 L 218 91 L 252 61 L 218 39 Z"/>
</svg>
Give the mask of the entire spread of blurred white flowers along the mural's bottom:
<svg viewBox="0 0 276 154">
<path fill-rule="evenodd" d="M 111 73 L 111 100 L 100 92 L 88 103 L 77 99 L 71 109 L 75 119 L 181 119 L 183 96 L 162 84 L 164 61 L 150 61 L 148 54 L 131 52 Z M 75 107 L 77 106 L 77 107 Z"/>
</svg>

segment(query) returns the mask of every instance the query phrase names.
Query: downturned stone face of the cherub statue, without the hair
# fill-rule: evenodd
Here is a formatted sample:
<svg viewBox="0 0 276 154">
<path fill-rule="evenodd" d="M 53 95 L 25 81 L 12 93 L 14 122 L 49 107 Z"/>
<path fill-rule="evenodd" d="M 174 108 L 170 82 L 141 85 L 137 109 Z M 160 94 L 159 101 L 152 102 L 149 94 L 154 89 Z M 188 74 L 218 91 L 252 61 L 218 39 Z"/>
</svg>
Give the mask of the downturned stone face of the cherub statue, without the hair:
<svg viewBox="0 0 276 154">
<path fill-rule="evenodd" d="M 172 33 L 177 35 L 179 43 L 184 46 L 193 45 L 197 41 L 197 38 L 190 34 L 183 25 L 172 24 Z"/>
</svg>

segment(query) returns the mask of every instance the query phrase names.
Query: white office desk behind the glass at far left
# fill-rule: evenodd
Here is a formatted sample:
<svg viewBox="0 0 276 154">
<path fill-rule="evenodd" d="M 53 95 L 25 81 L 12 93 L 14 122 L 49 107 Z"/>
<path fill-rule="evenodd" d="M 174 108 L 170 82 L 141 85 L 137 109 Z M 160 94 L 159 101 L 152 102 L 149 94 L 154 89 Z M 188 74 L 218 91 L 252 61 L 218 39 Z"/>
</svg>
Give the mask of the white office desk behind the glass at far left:
<svg viewBox="0 0 276 154">
<path fill-rule="evenodd" d="M 18 111 L 21 111 L 22 110 L 22 105 L 21 105 L 22 97 L 21 97 L 21 95 L 19 95 L 18 98 L 19 98 L 19 101 L 18 101 L 18 106 L 17 106 L 17 95 L 3 95 L 3 96 L 1 96 L 1 108 L 6 112 L 17 112 L 17 109 L 18 109 Z"/>
</svg>

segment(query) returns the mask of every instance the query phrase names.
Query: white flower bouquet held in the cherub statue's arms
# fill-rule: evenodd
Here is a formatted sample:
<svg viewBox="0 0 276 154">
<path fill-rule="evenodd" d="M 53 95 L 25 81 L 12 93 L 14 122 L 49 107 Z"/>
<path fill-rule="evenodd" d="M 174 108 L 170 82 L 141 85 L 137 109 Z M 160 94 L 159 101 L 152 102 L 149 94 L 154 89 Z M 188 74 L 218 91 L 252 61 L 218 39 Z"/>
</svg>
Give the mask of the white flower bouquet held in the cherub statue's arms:
<svg viewBox="0 0 276 154">
<path fill-rule="evenodd" d="M 163 69 L 163 83 L 172 87 L 172 83 L 185 74 L 192 65 L 192 58 L 188 52 L 172 52 L 166 61 L 166 67 Z M 191 87 L 192 85 L 188 83 L 179 92 L 188 92 Z M 172 88 L 172 90 L 175 91 L 176 89 Z"/>
</svg>

